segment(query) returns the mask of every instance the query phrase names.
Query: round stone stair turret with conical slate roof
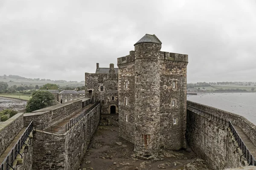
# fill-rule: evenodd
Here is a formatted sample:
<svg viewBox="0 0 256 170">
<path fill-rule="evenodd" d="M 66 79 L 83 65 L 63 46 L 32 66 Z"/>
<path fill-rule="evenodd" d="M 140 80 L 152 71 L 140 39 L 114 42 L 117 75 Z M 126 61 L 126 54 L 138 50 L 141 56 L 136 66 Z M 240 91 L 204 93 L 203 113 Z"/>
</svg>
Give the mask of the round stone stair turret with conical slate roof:
<svg viewBox="0 0 256 170">
<path fill-rule="evenodd" d="M 157 152 L 160 147 L 160 40 L 146 34 L 135 46 L 134 151 Z"/>
</svg>

